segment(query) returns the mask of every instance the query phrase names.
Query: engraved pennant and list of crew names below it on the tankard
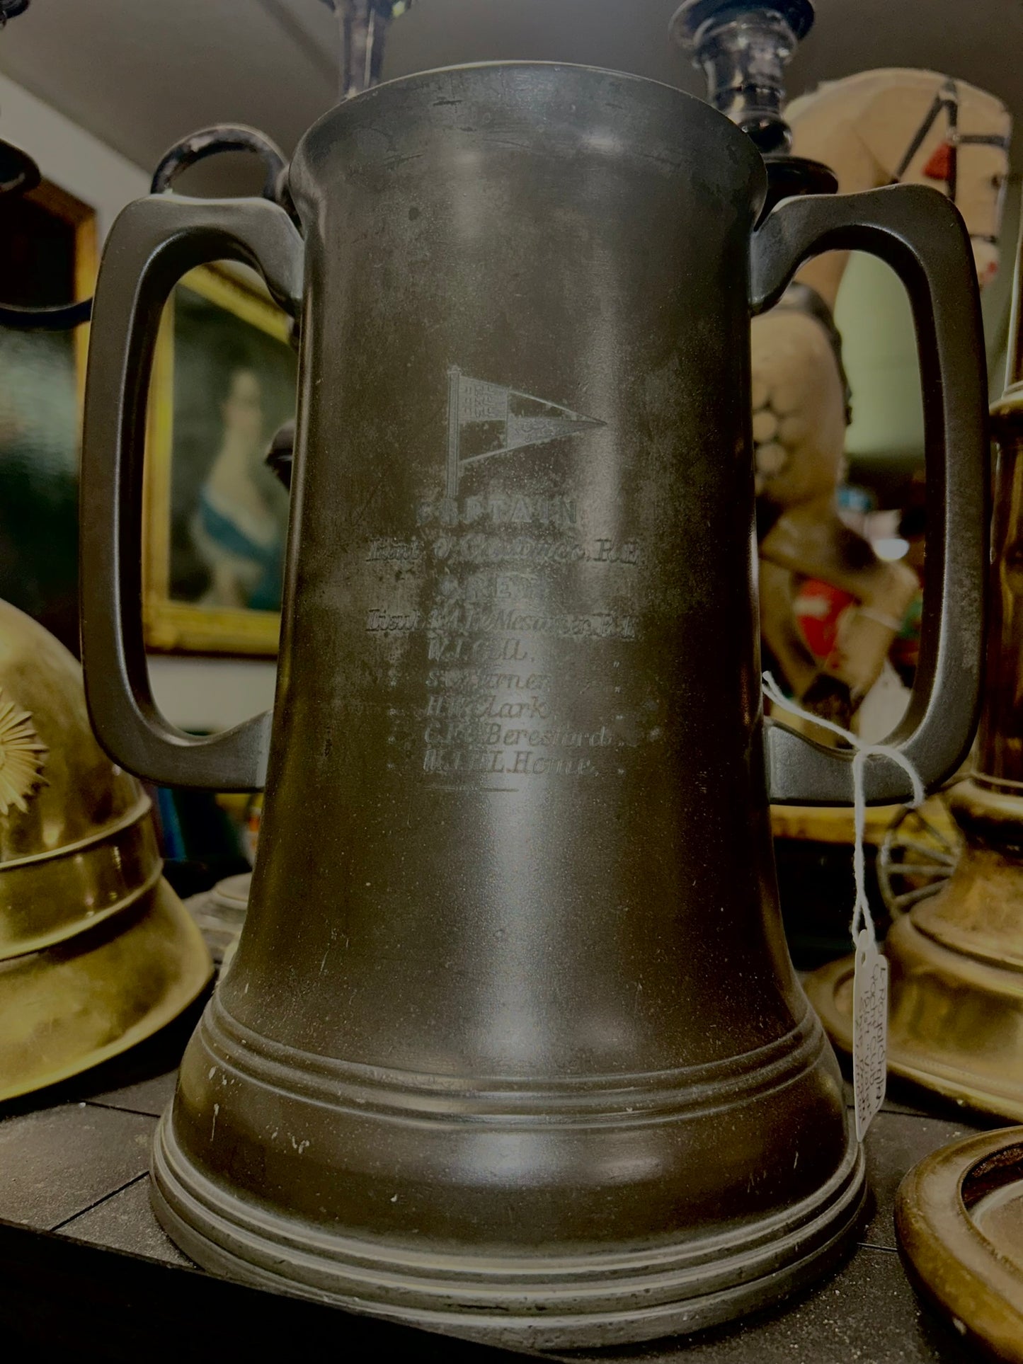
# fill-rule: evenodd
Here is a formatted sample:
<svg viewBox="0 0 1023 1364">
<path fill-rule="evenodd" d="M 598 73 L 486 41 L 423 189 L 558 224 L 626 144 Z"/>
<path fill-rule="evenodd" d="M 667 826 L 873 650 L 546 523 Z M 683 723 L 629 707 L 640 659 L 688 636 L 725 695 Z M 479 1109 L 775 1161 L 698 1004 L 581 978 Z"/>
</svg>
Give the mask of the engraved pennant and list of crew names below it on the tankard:
<svg viewBox="0 0 1023 1364">
<path fill-rule="evenodd" d="M 612 655 L 636 640 L 634 615 L 603 602 L 632 599 L 638 544 L 584 531 L 588 518 L 570 495 L 461 495 L 466 468 L 600 426 L 449 371 L 445 495 L 419 503 L 415 535 L 376 539 L 367 551 L 370 562 L 409 569 L 428 584 L 416 610 L 386 602 L 370 608 L 366 630 L 415 640 L 409 657 L 424 686 L 411 762 L 430 784 L 517 790 L 531 779 L 623 771 L 615 749 L 625 742 L 617 728 L 625 717 L 612 702 L 597 716 L 587 704 L 580 719 L 572 697 L 618 668 Z M 582 577 L 584 608 L 566 607 Z M 595 582 L 606 585 L 596 604 Z M 555 677 L 565 672 L 574 687 Z M 618 690 L 611 683 L 597 694 Z"/>
</svg>

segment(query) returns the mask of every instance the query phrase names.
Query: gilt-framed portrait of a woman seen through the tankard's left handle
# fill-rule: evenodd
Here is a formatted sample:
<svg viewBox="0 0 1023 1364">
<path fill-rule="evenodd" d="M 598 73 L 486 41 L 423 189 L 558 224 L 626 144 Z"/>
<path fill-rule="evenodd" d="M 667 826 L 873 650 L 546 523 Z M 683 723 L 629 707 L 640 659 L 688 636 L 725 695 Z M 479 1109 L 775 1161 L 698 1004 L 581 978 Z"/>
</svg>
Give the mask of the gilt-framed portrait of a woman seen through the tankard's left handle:
<svg viewBox="0 0 1023 1364">
<path fill-rule="evenodd" d="M 150 649 L 277 652 L 288 494 L 266 465 L 295 412 L 289 319 L 218 266 L 161 321 L 149 405 L 143 619 Z"/>
</svg>

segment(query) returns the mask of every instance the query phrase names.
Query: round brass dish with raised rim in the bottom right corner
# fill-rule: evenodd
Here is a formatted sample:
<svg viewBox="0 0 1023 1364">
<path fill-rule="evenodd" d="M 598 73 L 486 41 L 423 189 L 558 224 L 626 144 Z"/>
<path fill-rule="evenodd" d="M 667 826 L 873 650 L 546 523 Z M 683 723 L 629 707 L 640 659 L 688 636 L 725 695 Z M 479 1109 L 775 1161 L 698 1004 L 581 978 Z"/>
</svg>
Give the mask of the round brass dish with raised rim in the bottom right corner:
<svg viewBox="0 0 1023 1364">
<path fill-rule="evenodd" d="M 899 1187 L 895 1225 L 919 1288 L 956 1330 L 1023 1364 L 1023 1127 L 921 1161 Z"/>
</svg>

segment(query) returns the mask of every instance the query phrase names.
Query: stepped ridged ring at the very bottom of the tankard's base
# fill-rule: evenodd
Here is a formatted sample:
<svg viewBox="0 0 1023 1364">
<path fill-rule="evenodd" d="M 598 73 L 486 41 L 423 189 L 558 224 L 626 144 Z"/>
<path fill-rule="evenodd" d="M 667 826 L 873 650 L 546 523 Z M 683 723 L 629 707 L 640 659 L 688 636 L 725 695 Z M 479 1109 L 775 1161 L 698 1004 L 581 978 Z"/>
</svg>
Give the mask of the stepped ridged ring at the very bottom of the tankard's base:
<svg viewBox="0 0 1023 1364">
<path fill-rule="evenodd" d="M 276 1292 L 494 1345 L 619 1345 L 717 1326 L 777 1301 L 840 1256 L 859 1218 L 863 1154 L 850 1138 L 813 1199 L 671 1245 L 574 1256 L 434 1252 L 331 1233 L 214 1184 L 170 1114 L 153 1153 L 153 1207 L 205 1269 Z"/>
</svg>

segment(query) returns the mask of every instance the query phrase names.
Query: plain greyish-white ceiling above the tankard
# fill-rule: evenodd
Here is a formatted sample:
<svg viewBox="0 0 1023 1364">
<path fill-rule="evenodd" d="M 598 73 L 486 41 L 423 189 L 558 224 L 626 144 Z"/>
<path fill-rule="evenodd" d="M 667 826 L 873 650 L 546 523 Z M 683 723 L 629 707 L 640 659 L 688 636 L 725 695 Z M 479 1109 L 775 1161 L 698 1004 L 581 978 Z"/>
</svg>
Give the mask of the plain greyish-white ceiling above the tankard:
<svg viewBox="0 0 1023 1364">
<path fill-rule="evenodd" d="M 391 26 L 385 76 L 527 57 L 617 67 L 702 94 L 702 76 L 667 38 L 675 3 L 419 0 Z M 790 68 L 791 95 L 869 67 L 945 71 L 1013 109 L 1013 160 L 1023 165 L 1023 0 L 816 0 L 816 8 Z M 177 138 L 217 121 L 254 124 L 291 153 L 334 102 L 337 46 L 322 0 L 31 0 L 0 33 L 0 71 L 151 168 Z M 226 165 L 194 175 L 203 184 L 192 188 L 239 184 Z"/>
</svg>

